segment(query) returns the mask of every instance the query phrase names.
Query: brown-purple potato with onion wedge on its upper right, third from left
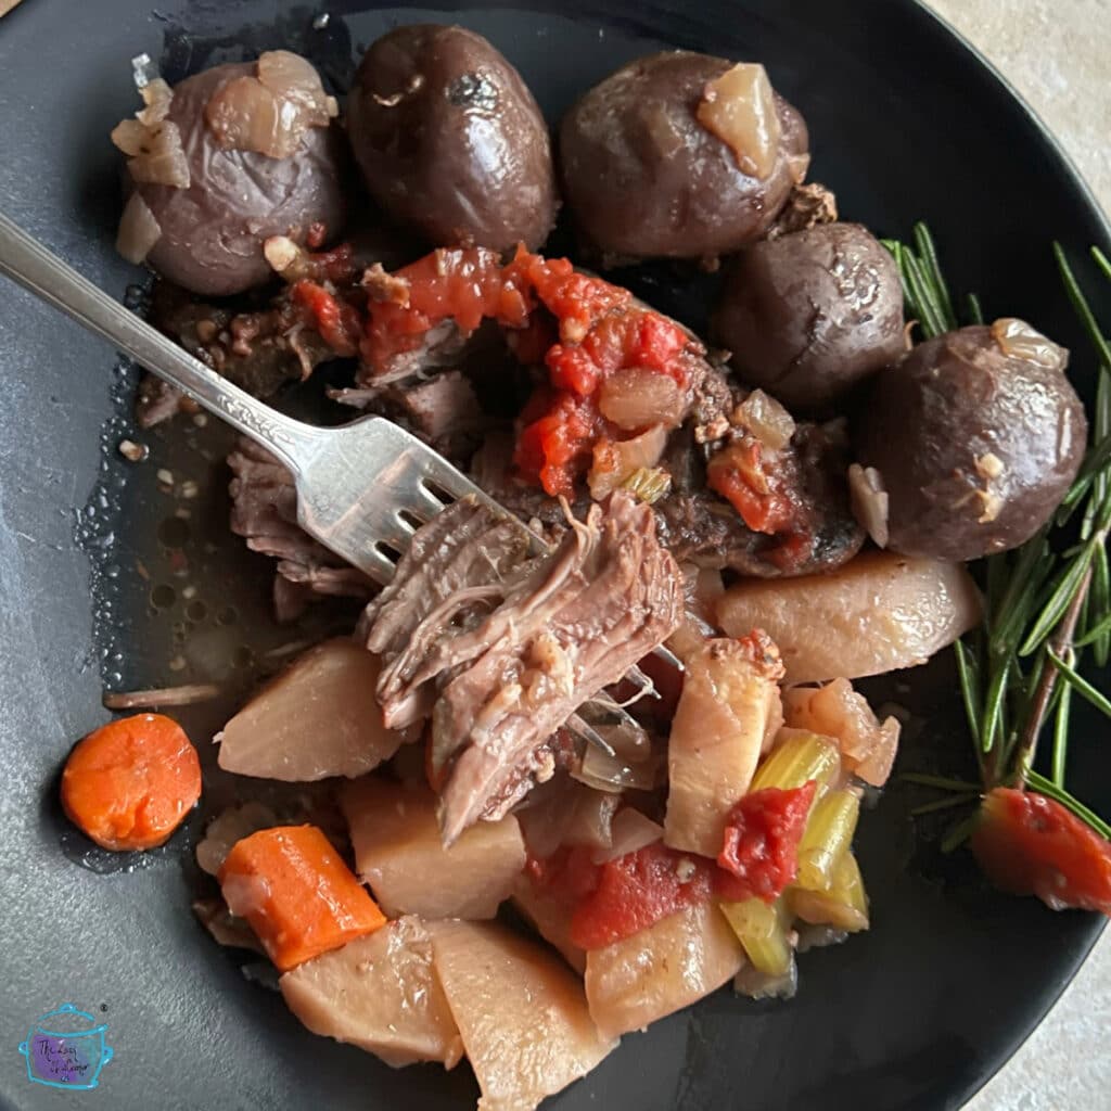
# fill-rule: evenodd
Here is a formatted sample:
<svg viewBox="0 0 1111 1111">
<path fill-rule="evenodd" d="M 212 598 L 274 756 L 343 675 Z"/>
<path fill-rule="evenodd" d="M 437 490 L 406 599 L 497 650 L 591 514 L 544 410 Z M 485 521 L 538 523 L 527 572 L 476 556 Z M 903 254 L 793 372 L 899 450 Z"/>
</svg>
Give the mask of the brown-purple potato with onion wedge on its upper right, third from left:
<svg viewBox="0 0 1111 1111">
<path fill-rule="evenodd" d="M 801 178 L 807 126 L 777 96 L 775 164 L 763 181 L 744 173 L 694 114 L 707 83 L 732 64 L 684 50 L 640 58 L 564 116 L 563 196 L 584 246 L 608 261 L 713 259 L 764 234 Z"/>
</svg>

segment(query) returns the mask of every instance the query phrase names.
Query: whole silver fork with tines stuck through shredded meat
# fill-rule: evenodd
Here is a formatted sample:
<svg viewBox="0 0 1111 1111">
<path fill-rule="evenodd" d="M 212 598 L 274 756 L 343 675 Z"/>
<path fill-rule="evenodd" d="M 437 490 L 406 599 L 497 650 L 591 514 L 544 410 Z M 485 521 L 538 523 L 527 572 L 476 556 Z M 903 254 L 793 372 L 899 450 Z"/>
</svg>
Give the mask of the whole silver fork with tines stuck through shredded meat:
<svg viewBox="0 0 1111 1111">
<path fill-rule="evenodd" d="M 536 550 L 547 550 L 547 543 L 523 522 L 392 421 L 364 417 L 326 429 L 278 412 L 151 328 L 3 213 L 0 273 L 103 337 L 277 456 L 293 474 L 301 528 L 377 582 L 390 581 L 417 529 L 460 498 L 473 498 L 514 521 Z M 681 667 L 667 649 L 661 651 L 669 662 Z M 630 678 L 641 690 L 651 689 L 639 669 Z M 637 728 L 609 695 L 603 693 L 595 704 L 622 724 Z M 613 755 L 612 747 L 578 715 L 572 728 Z"/>
</svg>

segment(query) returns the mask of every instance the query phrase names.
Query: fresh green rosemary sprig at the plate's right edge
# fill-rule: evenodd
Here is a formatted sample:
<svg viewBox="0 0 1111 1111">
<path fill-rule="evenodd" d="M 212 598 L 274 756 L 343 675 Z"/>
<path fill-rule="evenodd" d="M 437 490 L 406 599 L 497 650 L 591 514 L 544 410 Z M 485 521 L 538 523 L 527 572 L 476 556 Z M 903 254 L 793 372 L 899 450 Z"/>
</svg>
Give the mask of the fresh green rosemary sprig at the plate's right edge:
<svg viewBox="0 0 1111 1111">
<path fill-rule="evenodd" d="M 950 287 L 941 272 L 929 229 L 913 229 L 913 246 L 884 240 L 903 282 L 907 317 L 930 339 L 960 327 Z M 1111 343 L 1103 336 L 1069 260 L 1059 243 L 1053 256 L 1065 293 L 1100 363 L 1092 422 L 1092 447 L 1053 524 L 1045 526 L 1012 552 L 983 561 L 985 612 L 982 628 L 954 645 L 961 698 L 981 771 L 982 789 L 1029 785 L 1067 807 L 1103 837 L 1111 824 L 1065 788 L 1069 724 L 1073 695 L 1111 715 L 1111 699 L 1080 674 L 1090 649 L 1095 663 L 1111 657 L 1111 571 L 1107 539 L 1111 527 Z M 1092 258 L 1111 280 L 1111 260 L 1099 248 Z M 975 296 L 965 299 L 967 320 L 983 322 Z M 1058 530 L 1081 510 L 1079 541 L 1061 543 Z M 1052 719 L 1051 778 L 1033 768 L 1038 739 Z M 919 807 L 915 813 L 957 807 L 972 798 L 963 780 L 939 775 L 903 779 L 950 792 L 951 799 Z M 954 825 L 943 839 L 945 851 L 971 830 L 971 820 Z"/>
</svg>

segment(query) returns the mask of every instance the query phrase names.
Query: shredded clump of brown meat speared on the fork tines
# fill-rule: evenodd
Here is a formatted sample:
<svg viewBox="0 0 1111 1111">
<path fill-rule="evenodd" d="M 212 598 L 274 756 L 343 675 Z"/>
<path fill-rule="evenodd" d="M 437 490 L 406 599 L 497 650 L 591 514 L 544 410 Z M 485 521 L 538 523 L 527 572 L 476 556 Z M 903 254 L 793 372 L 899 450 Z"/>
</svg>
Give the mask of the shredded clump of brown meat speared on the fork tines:
<svg viewBox="0 0 1111 1111">
<path fill-rule="evenodd" d="M 368 647 L 389 661 L 378 687 L 386 721 L 431 710 L 446 844 L 548 778 L 549 739 L 683 611 L 679 568 L 631 494 L 572 519 L 560 546 L 531 560 L 499 561 L 496 519 L 467 507 L 418 531 L 367 618 Z"/>
</svg>

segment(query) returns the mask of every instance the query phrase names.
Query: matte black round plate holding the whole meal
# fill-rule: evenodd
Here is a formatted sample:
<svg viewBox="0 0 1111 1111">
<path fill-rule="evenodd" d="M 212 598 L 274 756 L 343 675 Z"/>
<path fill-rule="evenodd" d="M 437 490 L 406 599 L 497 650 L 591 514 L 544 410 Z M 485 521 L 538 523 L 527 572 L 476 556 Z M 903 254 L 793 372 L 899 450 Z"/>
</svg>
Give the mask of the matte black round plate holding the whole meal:
<svg viewBox="0 0 1111 1111">
<path fill-rule="evenodd" d="M 107 134 L 134 108 L 128 60 L 141 51 L 163 58 L 167 74 L 178 78 L 292 44 L 342 81 L 352 51 L 388 26 L 457 19 L 519 66 L 554 119 L 625 59 L 657 44 L 692 47 L 767 62 L 809 120 L 813 176 L 835 189 L 843 216 L 903 236 L 928 218 L 957 282 L 978 290 L 989 313 L 1027 317 L 1069 343 L 1077 380 L 1090 387 L 1091 360 L 1049 248 L 1054 238 L 1074 256 L 1092 242 L 1108 248 L 1108 229 L 1037 121 L 915 4 L 552 0 L 464 3 L 450 14 L 367 7 L 333 3 L 329 24 L 313 30 L 314 11 L 283 2 L 163 0 L 152 11 L 137 0 L 27 0 L 0 23 L 3 208 L 123 294 L 137 274 L 112 252 L 118 166 Z M 1111 298 L 1099 308 L 1111 319 Z M 266 562 L 227 542 L 206 548 L 208 536 L 223 537 L 226 512 L 219 461 L 204 458 L 218 449 L 211 430 L 150 438 L 153 458 L 142 467 L 116 456 L 133 381 L 116 364 L 102 343 L 2 287 L 0 1103 L 468 1105 L 476 1090 L 466 1069 L 391 1072 L 308 1034 L 277 995 L 247 982 L 190 914 L 197 878 L 188 847 L 199 818 L 169 849 L 123 861 L 111 874 L 98 874 L 103 858 L 67 833 L 54 801 L 58 768 L 70 744 L 103 720 L 102 680 L 140 685 L 216 669 L 236 688 L 249 654 L 288 635 L 263 617 Z M 214 487 L 198 499 L 171 499 L 158 489 L 159 466 L 177 468 L 179 493 L 187 476 L 214 479 Z M 163 523 L 179 509 L 191 514 L 187 529 Z M 190 581 L 199 584 L 203 615 L 186 610 Z M 159 598 L 164 610 L 150 604 L 157 585 L 174 588 L 172 600 Z M 183 671 L 170 669 L 177 654 Z M 950 664 L 905 679 L 900 700 L 929 724 L 900 767 L 961 769 L 965 742 Z M 200 739 L 212 714 L 190 723 Z M 1111 774 L 1095 743 L 1105 740 L 1100 732 L 1105 728 L 1078 722 L 1074 782 L 1107 809 Z M 212 793 L 221 790 L 217 783 Z M 915 830 L 907 810 L 921 801 L 895 785 L 867 815 L 861 854 L 873 929 L 804 957 L 793 1003 L 752 1004 L 719 992 L 625 1038 L 551 1107 L 959 1105 L 1042 1017 L 1100 922 L 994 895 L 965 858 L 938 853 L 937 827 Z M 109 1024 L 116 1057 L 97 1093 L 29 1083 L 16 1051 L 36 1018 L 62 1001 Z"/>
</svg>

